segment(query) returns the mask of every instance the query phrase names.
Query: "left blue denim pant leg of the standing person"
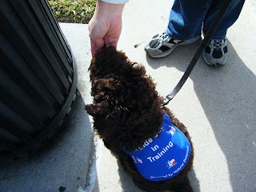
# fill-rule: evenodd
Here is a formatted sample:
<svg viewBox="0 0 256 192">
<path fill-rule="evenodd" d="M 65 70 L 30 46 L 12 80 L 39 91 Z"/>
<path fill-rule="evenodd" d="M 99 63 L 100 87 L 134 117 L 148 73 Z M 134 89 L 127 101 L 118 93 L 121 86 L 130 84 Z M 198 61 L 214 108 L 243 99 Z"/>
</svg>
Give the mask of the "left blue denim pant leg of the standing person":
<svg viewBox="0 0 256 192">
<path fill-rule="evenodd" d="M 187 40 L 200 35 L 202 22 L 211 2 L 212 0 L 174 0 L 166 33 L 178 40 Z"/>
</svg>

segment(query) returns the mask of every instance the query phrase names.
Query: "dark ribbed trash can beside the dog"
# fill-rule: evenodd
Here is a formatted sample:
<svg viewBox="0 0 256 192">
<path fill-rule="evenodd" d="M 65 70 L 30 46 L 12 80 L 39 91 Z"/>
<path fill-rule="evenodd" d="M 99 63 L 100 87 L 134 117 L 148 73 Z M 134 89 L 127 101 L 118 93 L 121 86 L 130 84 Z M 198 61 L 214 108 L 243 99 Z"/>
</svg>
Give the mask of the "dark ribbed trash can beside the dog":
<svg viewBox="0 0 256 192">
<path fill-rule="evenodd" d="M 46 0 L 1 0 L 0 159 L 42 145 L 74 101 L 77 69 Z"/>
</svg>

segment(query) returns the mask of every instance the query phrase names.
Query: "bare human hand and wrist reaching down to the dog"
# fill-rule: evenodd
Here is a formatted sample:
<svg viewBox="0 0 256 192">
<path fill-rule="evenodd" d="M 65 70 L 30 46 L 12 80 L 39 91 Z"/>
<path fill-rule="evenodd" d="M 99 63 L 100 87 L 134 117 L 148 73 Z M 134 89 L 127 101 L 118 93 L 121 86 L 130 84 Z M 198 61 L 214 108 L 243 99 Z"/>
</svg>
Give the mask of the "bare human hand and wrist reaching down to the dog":
<svg viewBox="0 0 256 192">
<path fill-rule="evenodd" d="M 117 48 L 122 30 L 123 7 L 124 4 L 97 1 L 94 16 L 90 19 L 88 25 L 91 54 L 93 56 L 102 50 L 104 45 Z"/>
</svg>

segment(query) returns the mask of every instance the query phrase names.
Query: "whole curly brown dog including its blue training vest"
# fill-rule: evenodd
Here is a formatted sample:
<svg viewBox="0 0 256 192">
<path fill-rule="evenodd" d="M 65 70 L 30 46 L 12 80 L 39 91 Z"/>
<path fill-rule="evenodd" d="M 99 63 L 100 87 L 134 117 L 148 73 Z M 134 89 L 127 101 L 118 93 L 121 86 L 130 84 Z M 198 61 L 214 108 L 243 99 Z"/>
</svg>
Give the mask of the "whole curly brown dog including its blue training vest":
<svg viewBox="0 0 256 192">
<path fill-rule="evenodd" d="M 144 66 L 130 62 L 124 53 L 110 47 L 95 54 L 89 70 L 94 102 L 86 105 L 86 111 L 94 118 L 94 130 L 97 130 L 105 146 L 116 154 L 135 185 L 142 190 L 154 192 L 193 191 L 187 177 L 194 158 L 190 135 L 186 127 L 174 118 L 174 114 L 162 107 L 163 98 L 155 90 L 152 78 L 146 75 Z M 168 114 L 166 116 L 170 117 L 168 118 L 174 126 L 168 124 L 167 128 L 163 128 L 164 114 Z M 165 131 L 166 129 L 169 130 Z M 159 146 L 162 144 L 158 142 L 161 137 L 173 139 L 172 135 L 175 132 L 178 135 L 178 131 L 180 137 L 183 135 L 190 143 L 190 154 L 189 146 L 186 145 L 186 163 L 180 164 L 176 161 L 176 158 L 181 157 L 177 150 L 179 148 L 174 149 L 174 140 L 163 141 L 167 145 L 160 147 L 161 149 Z M 169 158 L 167 150 L 178 156 L 162 163 L 160 159 Z M 150 154 L 142 151 L 149 151 Z M 139 153 L 147 155 L 146 158 L 138 157 Z M 158 165 L 157 168 L 150 167 L 154 163 Z M 146 169 L 142 166 L 146 166 Z M 156 170 L 172 172 L 159 176 Z"/>
</svg>

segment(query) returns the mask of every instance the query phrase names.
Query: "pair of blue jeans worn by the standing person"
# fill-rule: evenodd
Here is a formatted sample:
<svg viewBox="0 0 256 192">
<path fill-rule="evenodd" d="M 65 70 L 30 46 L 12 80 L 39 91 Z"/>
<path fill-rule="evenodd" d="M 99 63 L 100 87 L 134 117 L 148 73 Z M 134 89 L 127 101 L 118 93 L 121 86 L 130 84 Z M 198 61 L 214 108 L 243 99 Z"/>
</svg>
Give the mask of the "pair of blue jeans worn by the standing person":
<svg viewBox="0 0 256 192">
<path fill-rule="evenodd" d="M 174 0 L 166 33 L 177 40 L 188 40 L 206 33 L 224 0 Z M 215 30 L 212 39 L 226 38 L 227 29 L 234 24 L 245 0 L 233 0 Z"/>
</svg>

